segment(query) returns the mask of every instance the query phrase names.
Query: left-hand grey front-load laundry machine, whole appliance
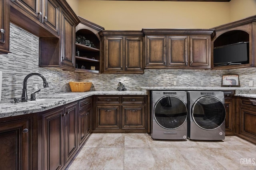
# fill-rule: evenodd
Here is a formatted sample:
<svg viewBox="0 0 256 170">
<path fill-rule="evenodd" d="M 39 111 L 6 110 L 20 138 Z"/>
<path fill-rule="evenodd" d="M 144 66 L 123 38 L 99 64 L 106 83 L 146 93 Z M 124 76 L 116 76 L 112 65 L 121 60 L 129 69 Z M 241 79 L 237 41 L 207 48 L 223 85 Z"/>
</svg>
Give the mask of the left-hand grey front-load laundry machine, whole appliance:
<svg viewBox="0 0 256 170">
<path fill-rule="evenodd" d="M 187 93 L 185 91 L 151 92 L 152 139 L 187 138 Z"/>
</svg>

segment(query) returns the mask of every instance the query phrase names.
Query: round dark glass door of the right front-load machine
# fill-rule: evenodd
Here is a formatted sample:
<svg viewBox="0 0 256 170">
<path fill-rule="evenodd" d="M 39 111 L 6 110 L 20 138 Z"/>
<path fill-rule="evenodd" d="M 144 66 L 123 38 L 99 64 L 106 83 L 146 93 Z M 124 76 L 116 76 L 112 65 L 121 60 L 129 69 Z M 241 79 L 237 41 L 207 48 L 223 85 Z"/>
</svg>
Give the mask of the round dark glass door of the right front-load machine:
<svg viewBox="0 0 256 170">
<path fill-rule="evenodd" d="M 216 129 L 225 121 L 226 110 L 217 98 L 204 96 L 194 103 L 192 117 L 196 125 L 202 129 Z"/>
</svg>

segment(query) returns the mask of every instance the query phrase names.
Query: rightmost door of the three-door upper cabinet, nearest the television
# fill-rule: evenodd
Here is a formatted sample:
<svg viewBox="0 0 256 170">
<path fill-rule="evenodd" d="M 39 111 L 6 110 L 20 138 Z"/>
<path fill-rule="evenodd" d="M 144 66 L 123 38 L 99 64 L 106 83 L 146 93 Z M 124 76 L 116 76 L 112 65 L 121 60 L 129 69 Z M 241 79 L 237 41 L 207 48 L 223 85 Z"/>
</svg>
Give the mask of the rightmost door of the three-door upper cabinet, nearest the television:
<svg viewBox="0 0 256 170">
<path fill-rule="evenodd" d="M 210 68 L 210 37 L 190 36 L 190 66 Z"/>
</svg>

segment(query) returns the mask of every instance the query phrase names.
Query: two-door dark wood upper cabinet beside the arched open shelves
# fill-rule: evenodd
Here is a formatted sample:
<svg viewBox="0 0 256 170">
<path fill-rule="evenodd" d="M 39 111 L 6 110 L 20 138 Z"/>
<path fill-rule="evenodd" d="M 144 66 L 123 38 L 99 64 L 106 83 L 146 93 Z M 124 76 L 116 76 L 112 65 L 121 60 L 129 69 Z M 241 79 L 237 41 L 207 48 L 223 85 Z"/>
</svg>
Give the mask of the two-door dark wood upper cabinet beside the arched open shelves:
<svg viewBox="0 0 256 170">
<path fill-rule="evenodd" d="M 101 31 L 104 73 L 143 73 L 141 31 Z"/>
</svg>

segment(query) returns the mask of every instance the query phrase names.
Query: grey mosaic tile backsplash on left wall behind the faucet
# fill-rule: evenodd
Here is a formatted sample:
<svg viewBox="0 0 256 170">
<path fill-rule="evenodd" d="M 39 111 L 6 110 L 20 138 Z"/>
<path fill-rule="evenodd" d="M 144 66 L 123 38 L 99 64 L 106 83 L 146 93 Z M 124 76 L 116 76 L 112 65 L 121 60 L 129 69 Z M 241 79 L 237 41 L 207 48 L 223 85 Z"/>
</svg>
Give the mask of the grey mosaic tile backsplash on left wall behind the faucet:
<svg viewBox="0 0 256 170">
<path fill-rule="evenodd" d="M 39 38 L 24 29 L 10 23 L 10 52 L 0 55 L 0 71 L 2 71 L 2 101 L 20 98 L 23 80 L 26 75 L 37 72 L 48 82 L 49 88 L 43 88 L 43 80 L 39 76 L 31 76 L 27 82 L 28 97 L 34 90 L 34 84 L 41 89 L 40 95 L 56 94 L 70 91 L 69 81 L 77 81 L 78 74 L 56 68 L 41 68 L 39 61 Z"/>
</svg>

